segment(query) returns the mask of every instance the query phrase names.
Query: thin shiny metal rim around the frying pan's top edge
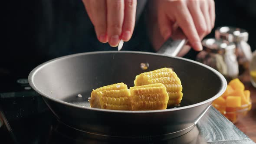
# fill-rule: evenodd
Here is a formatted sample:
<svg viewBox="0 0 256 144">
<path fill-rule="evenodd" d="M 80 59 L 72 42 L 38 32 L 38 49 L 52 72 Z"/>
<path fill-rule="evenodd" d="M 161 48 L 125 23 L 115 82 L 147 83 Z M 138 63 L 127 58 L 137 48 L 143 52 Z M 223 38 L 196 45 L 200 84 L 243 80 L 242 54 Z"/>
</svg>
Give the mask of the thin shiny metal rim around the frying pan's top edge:
<svg viewBox="0 0 256 144">
<path fill-rule="evenodd" d="M 200 66 L 202 66 L 202 67 L 212 71 L 221 80 L 221 88 L 220 88 L 220 91 L 216 95 L 214 95 L 213 97 L 211 97 L 211 98 L 209 98 L 209 99 L 207 99 L 205 101 L 198 102 L 198 103 L 193 104 L 193 105 L 187 105 L 187 106 L 183 106 L 183 107 L 179 107 L 179 108 L 170 108 L 170 109 L 164 109 L 164 110 L 124 111 L 124 110 L 108 110 L 108 109 L 101 109 L 101 108 L 89 108 L 89 107 L 83 107 L 83 106 L 80 106 L 80 105 L 75 105 L 75 104 L 72 104 L 72 103 L 69 103 L 69 102 L 66 102 L 66 101 L 62 101 L 62 100 L 59 100 L 57 98 L 53 98 L 53 97 L 50 97 L 50 96 L 44 94 L 43 92 L 41 92 L 39 90 L 39 88 L 36 87 L 35 83 L 33 82 L 33 78 L 34 78 L 35 74 L 40 69 L 42 69 L 44 66 L 46 66 L 46 64 L 49 64 L 51 62 L 56 62 L 56 61 L 61 60 L 61 59 L 75 57 L 75 56 L 93 55 L 93 54 L 100 54 L 100 53 L 133 53 L 133 54 L 146 54 L 146 55 L 154 55 L 154 56 L 164 56 L 164 57 L 169 57 L 169 58 L 173 58 L 173 59 L 181 59 L 181 60 L 184 60 L 184 61 L 187 61 L 187 62 L 194 63 L 196 65 L 200 65 Z M 188 108 L 194 108 L 194 107 L 203 105 L 205 103 L 208 103 L 210 101 L 213 101 L 216 98 L 220 97 L 220 95 L 222 95 L 225 92 L 226 87 L 227 87 L 227 82 L 226 82 L 226 79 L 224 78 L 224 76 L 220 72 L 218 72 L 217 70 L 211 68 L 208 65 L 205 65 L 205 64 L 200 63 L 200 62 L 196 62 L 194 60 L 182 58 L 182 57 L 167 56 L 167 55 L 153 53 L 153 52 L 140 52 L 140 51 L 97 51 L 97 52 L 82 52 L 82 53 L 76 53 L 76 54 L 71 54 L 71 55 L 67 55 L 67 56 L 61 56 L 61 57 L 58 57 L 58 58 L 51 59 L 49 61 L 43 62 L 42 64 L 36 66 L 30 72 L 30 74 L 28 76 L 28 82 L 29 82 L 30 86 L 33 88 L 33 90 L 36 91 L 37 93 L 39 93 L 39 95 L 41 95 L 41 96 L 43 96 L 45 98 L 48 98 L 48 99 L 50 99 L 52 101 L 55 101 L 57 103 L 63 104 L 63 105 L 68 105 L 68 106 L 71 106 L 71 107 L 82 108 L 82 109 L 85 109 L 85 110 L 92 110 L 92 111 L 105 111 L 105 112 L 115 112 L 115 113 L 137 113 L 137 114 L 138 113 L 156 113 L 156 112 L 178 111 L 178 110 L 184 110 L 184 109 L 188 109 Z"/>
</svg>

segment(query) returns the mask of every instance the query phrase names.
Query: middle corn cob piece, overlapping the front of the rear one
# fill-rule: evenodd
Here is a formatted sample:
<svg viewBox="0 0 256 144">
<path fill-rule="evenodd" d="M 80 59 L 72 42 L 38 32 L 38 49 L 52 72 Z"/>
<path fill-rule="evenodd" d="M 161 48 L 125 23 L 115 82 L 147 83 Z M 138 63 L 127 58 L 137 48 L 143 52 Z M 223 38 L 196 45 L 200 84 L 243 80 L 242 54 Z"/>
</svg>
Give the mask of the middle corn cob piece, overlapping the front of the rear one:
<svg viewBox="0 0 256 144">
<path fill-rule="evenodd" d="M 168 94 L 163 84 L 151 84 L 130 88 L 133 111 L 166 109 Z"/>
</svg>

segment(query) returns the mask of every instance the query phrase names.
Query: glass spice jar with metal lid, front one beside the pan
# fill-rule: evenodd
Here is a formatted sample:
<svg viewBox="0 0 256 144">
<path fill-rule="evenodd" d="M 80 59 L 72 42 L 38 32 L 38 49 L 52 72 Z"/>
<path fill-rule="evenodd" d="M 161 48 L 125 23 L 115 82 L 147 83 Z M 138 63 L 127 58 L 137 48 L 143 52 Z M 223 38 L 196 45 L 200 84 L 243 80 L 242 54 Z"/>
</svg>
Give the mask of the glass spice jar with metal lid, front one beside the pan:
<svg viewBox="0 0 256 144">
<path fill-rule="evenodd" d="M 227 81 L 238 77 L 239 69 L 236 59 L 236 46 L 223 39 L 204 39 L 203 51 L 196 60 L 216 69 Z"/>
</svg>

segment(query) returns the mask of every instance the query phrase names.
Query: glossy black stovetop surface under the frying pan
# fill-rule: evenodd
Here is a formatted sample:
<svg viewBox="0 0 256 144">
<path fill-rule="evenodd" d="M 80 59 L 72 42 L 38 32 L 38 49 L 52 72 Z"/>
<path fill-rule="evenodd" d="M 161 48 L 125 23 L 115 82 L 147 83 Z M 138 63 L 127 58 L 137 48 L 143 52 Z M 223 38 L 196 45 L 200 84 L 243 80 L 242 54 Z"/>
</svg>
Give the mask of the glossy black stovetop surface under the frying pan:
<svg viewBox="0 0 256 144">
<path fill-rule="evenodd" d="M 0 144 L 255 144 L 215 108 L 180 137 L 114 138 L 79 131 L 57 121 L 27 79 L 17 79 L 0 88 Z M 13 91 L 10 91 L 12 86 Z"/>
</svg>

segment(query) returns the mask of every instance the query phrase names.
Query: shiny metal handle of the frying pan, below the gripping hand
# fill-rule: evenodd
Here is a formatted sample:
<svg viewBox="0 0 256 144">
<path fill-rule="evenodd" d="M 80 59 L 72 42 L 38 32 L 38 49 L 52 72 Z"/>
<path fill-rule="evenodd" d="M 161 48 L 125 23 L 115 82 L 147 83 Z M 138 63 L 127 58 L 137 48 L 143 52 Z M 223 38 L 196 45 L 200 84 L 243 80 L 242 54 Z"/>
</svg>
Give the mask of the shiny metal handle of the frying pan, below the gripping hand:
<svg viewBox="0 0 256 144">
<path fill-rule="evenodd" d="M 164 44 L 160 47 L 157 53 L 167 56 L 177 56 L 177 54 L 181 51 L 186 43 L 187 39 L 174 40 L 172 38 L 169 38 L 166 42 L 164 42 Z"/>
</svg>

